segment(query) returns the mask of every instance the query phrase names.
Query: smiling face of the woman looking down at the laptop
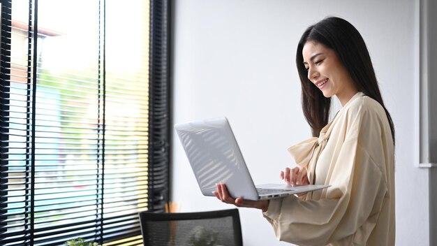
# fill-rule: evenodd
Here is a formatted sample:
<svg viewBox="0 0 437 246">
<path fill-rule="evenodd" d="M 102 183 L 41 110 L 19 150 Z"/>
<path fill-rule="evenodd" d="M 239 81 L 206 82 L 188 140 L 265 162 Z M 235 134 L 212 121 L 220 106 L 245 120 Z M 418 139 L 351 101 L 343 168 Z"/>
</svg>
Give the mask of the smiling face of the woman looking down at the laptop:
<svg viewBox="0 0 437 246">
<path fill-rule="evenodd" d="M 308 78 L 325 97 L 336 95 L 345 105 L 358 90 L 334 50 L 314 41 L 307 41 L 302 50 Z"/>
</svg>

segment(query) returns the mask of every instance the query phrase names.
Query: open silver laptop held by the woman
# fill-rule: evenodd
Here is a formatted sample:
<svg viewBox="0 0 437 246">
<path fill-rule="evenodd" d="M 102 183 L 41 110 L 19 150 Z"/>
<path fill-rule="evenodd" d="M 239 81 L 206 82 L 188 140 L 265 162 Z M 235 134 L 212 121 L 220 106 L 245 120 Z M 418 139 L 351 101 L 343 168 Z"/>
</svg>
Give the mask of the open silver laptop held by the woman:
<svg viewBox="0 0 437 246">
<path fill-rule="evenodd" d="M 223 182 L 232 197 L 265 200 L 299 194 L 329 185 L 253 184 L 230 124 L 225 117 L 175 124 L 200 190 L 214 196 L 216 184 Z"/>
</svg>

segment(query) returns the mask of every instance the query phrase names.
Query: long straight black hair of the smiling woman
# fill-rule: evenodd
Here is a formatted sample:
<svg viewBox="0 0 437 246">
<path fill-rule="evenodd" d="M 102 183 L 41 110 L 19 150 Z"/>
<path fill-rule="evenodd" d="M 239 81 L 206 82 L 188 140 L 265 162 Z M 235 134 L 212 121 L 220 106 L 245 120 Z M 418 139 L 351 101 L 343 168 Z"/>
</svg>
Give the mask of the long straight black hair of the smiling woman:
<svg viewBox="0 0 437 246">
<path fill-rule="evenodd" d="M 318 136 L 320 130 L 328 123 L 331 99 L 323 96 L 320 89 L 308 79 L 308 71 L 304 66 L 304 57 L 302 57 L 302 50 L 307 41 L 315 41 L 334 50 L 357 90 L 383 106 L 394 143 L 394 124 L 390 113 L 384 106 L 366 43 L 352 24 L 339 17 L 327 17 L 311 25 L 304 31 L 297 45 L 296 66 L 302 85 L 302 110 L 306 121 L 311 126 L 313 136 Z"/>
</svg>

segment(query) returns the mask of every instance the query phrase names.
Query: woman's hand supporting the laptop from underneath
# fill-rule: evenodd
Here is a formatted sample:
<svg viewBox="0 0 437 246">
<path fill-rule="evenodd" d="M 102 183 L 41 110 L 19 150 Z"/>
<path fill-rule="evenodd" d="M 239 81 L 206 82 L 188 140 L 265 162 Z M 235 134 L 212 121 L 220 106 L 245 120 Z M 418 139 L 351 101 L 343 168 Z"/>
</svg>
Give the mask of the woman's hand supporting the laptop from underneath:
<svg viewBox="0 0 437 246">
<path fill-rule="evenodd" d="M 246 208 L 258 208 L 262 210 L 262 212 L 267 211 L 267 208 L 269 207 L 269 201 L 263 200 L 263 201 L 251 201 L 251 200 L 244 200 L 243 198 L 233 198 L 229 195 L 228 189 L 226 189 L 226 184 L 220 183 L 216 184 L 217 190 L 212 191 L 212 194 L 218 198 L 218 200 L 223 201 L 223 203 L 229 203 L 236 205 L 237 207 L 246 207 Z"/>
</svg>

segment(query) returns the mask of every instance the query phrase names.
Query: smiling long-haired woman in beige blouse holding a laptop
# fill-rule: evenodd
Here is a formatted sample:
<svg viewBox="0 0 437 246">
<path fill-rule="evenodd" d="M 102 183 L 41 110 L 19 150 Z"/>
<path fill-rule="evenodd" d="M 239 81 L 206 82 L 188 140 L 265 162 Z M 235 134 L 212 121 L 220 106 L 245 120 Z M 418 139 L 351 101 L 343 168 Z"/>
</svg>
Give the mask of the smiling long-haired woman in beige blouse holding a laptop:
<svg viewBox="0 0 437 246">
<path fill-rule="evenodd" d="M 328 17 L 304 31 L 296 63 L 313 138 L 288 149 L 297 167 L 281 178 L 331 187 L 270 201 L 232 198 L 225 184 L 214 194 L 261 209 L 279 240 L 394 245 L 394 126 L 362 36 L 346 20 Z M 342 108 L 328 122 L 332 96 Z"/>
</svg>

